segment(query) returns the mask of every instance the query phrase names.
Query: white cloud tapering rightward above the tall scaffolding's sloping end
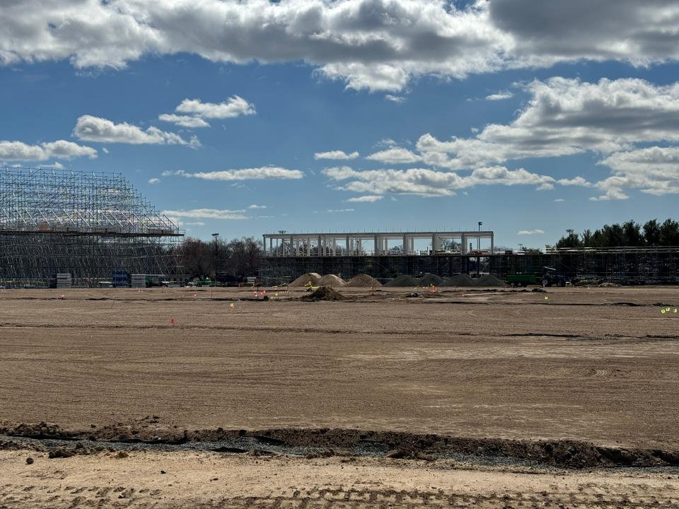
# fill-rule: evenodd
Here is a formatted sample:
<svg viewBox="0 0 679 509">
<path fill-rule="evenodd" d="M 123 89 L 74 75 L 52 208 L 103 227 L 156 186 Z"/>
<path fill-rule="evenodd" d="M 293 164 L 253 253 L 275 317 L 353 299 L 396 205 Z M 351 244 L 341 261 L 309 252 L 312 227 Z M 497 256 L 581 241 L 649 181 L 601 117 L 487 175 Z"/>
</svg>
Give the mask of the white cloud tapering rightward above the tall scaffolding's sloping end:
<svg viewBox="0 0 679 509">
<path fill-rule="evenodd" d="M 200 146 L 200 142 L 195 136 L 190 141 L 186 141 L 178 134 L 161 131 L 157 127 L 151 126 L 144 131 L 135 125 L 127 124 L 127 122 L 115 124 L 108 119 L 93 117 L 92 115 L 79 117 L 73 134 L 78 139 L 100 143 Z"/>
</svg>

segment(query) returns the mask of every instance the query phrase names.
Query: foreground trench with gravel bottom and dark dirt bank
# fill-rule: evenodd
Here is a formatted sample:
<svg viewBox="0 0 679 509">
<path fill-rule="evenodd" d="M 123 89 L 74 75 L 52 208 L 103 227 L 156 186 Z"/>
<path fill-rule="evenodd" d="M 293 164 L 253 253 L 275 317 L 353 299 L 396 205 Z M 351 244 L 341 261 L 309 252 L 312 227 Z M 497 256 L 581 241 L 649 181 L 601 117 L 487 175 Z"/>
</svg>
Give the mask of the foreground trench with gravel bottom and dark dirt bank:
<svg viewBox="0 0 679 509">
<path fill-rule="evenodd" d="M 50 457 L 126 450 L 213 451 L 308 458 L 371 456 L 408 460 L 452 459 L 475 464 L 516 464 L 565 469 L 651 468 L 679 472 L 679 451 L 605 447 L 576 440 L 460 438 L 353 429 L 280 428 L 262 431 L 178 430 L 154 426 L 151 417 L 82 431 L 49 423 L 0 428 L 0 449 L 36 450 Z"/>
</svg>

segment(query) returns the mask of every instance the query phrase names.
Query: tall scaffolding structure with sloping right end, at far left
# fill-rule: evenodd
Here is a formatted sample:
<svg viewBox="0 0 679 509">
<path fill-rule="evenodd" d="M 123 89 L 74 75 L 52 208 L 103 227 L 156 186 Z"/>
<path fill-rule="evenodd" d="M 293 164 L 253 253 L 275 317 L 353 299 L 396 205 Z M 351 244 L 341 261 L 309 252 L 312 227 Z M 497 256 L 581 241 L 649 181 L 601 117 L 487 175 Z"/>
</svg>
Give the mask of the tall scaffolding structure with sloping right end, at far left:
<svg viewBox="0 0 679 509">
<path fill-rule="evenodd" d="M 179 281 L 181 230 L 119 173 L 0 168 L 0 286 Z"/>
</svg>

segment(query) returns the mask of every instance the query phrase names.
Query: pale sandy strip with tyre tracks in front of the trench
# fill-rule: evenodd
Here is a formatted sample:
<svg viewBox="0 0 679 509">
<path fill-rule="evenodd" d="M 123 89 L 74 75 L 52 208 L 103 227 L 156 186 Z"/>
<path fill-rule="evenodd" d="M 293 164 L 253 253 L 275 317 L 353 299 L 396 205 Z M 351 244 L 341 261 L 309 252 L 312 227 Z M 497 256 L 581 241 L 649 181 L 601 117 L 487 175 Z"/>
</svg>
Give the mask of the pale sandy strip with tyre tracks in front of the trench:
<svg viewBox="0 0 679 509">
<path fill-rule="evenodd" d="M 679 477 L 526 472 L 452 462 L 135 452 L 47 460 L 0 452 L 0 507 L 678 508 Z"/>
</svg>

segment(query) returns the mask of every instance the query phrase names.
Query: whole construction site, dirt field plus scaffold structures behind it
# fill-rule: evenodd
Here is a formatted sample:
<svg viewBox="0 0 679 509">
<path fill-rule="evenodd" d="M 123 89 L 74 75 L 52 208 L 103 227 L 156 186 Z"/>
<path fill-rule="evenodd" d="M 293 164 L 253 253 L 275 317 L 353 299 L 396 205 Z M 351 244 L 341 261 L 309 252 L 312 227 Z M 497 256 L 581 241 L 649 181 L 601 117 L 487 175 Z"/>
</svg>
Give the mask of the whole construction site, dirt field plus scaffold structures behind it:
<svg viewBox="0 0 679 509">
<path fill-rule="evenodd" d="M 679 508 L 676 248 L 280 231 L 205 288 L 122 175 L 0 200 L 1 509 Z"/>
</svg>

